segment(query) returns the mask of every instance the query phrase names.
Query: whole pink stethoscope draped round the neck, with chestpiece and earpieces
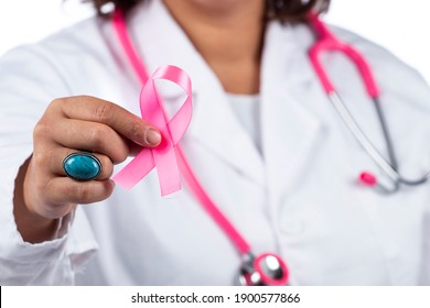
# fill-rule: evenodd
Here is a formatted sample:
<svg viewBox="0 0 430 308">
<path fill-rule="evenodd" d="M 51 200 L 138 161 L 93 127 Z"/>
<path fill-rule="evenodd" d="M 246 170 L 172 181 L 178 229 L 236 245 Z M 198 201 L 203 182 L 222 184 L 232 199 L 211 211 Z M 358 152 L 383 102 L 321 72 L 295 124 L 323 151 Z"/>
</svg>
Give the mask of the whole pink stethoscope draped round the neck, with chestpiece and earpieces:
<svg viewBox="0 0 430 308">
<path fill-rule="evenodd" d="M 388 188 L 379 184 L 376 177 L 367 172 L 361 174 L 359 179 L 362 183 L 368 186 L 375 186 L 384 193 L 394 193 L 399 189 L 400 184 L 406 185 L 419 185 L 426 183 L 430 173 L 426 174 L 418 180 L 407 180 L 397 172 L 397 162 L 394 154 L 394 148 L 390 142 L 390 136 L 386 125 L 384 114 L 378 101 L 379 90 L 375 84 L 370 69 L 363 58 L 352 46 L 338 41 L 323 24 L 316 14 L 309 16 L 310 25 L 314 30 L 318 42 L 310 50 L 310 59 L 320 78 L 325 92 L 330 100 L 340 113 L 341 118 L 354 134 L 355 139 L 373 158 L 373 161 L 381 167 L 381 169 L 394 182 L 394 186 Z M 116 10 L 112 15 L 112 25 L 117 33 L 118 40 L 135 69 L 135 73 L 139 77 L 142 85 L 149 79 L 146 67 L 138 56 L 136 48 L 130 40 L 127 31 L 127 25 L 121 12 Z M 384 138 L 388 150 L 389 161 L 383 157 L 383 155 L 376 150 L 372 142 L 366 138 L 354 118 L 351 116 L 346 106 L 343 103 L 340 95 L 334 89 L 327 75 L 325 74 L 322 64 L 319 61 L 319 55 L 324 51 L 338 51 L 347 55 L 354 64 L 357 66 L 359 74 L 366 86 L 367 94 L 374 100 L 375 108 L 383 128 Z M 283 286 L 289 282 L 289 270 L 286 262 L 275 253 L 262 253 L 255 255 L 251 252 L 250 245 L 245 238 L 238 232 L 238 230 L 232 224 L 232 222 L 224 216 L 218 207 L 213 202 L 209 196 L 206 194 L 196 176 L 194 175 L 190 164 L 187 163 L 182 148 L 176 145 L 175 147 L 178 164 L 181 169 L 181 175 L 185 179 L 187 186 L 193 191 L 194 197 L 200 201 L 201 206 L 211 216 L 214 222 L 225 232 L 227 238 L 238 250 L 241 257 L 241 266 L 239 270 L 239 283 L 247 286 L 268 285 L 268 286 Z"/>
</svg>

